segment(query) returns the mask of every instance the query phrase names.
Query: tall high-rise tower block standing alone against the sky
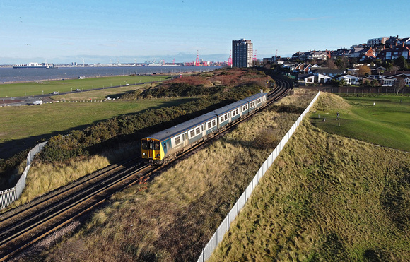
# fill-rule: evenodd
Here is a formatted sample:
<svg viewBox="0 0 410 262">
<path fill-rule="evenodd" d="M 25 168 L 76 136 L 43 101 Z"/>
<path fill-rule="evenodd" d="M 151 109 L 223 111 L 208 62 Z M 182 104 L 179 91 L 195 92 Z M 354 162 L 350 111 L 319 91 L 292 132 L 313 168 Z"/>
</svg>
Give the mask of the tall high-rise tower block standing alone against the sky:
<svg viewBox="0 0 410 262">
<path fill-rule="evenodd" d="M 235 67 L 251 67 L 253 44 L 250 40 L 232 41 L 232 65 Z"/>
</svg>

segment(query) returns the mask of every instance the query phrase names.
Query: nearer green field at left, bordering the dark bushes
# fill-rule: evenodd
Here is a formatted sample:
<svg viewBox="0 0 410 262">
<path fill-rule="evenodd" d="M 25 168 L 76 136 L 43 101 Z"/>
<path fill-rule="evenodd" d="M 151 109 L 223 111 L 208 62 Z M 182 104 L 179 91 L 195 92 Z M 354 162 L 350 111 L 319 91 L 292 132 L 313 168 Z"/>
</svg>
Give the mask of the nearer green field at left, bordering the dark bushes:
<svg viewBox="0 0 410 262">
<path fill-rule="evenodd" d="M 28 107 L 0 107 L 0 158 L 35 145 L 40 138 L 65 134 L 122 114 L 172 107 L 186 99 L 110 100 L 105 102 L 55 102 Z"/>
</svg>

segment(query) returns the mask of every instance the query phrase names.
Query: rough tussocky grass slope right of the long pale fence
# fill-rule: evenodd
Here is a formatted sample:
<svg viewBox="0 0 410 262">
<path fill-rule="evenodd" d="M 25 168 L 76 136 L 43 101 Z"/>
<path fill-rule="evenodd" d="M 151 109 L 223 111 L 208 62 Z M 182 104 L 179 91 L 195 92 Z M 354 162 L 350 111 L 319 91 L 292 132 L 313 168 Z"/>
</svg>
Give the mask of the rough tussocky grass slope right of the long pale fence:
<svg viewBox="0 0 410 262">
<path fill-rule="evenodd" d="M 377 126 L 366 129 L 365 138 L 380 144 L 385 140 L 375 133 L 389 133 L 381 130 L 386 125 L 377 124 L 379 117 L 372 117 L 373 123 L 363 121 L 377 116 L 373 99 L 371 107 L 357 102 L 351 106 L 340 97 L 322 93 L 317 112 L 332 116 L 337 110 L 342 112 L 341 129 L 334 127 L 339 127 L 335 118 L 311 120 L 342 134 L 349 133 L 347 126 L 356 132 L 363 122 Z M 402 125 L 402 105 L 389 99 L 385 104 L 378 100 L 377 105 L 385 105 L 380 112 L 389 115 L 392 125 Z M 385 139 L 385 145 L 394 144 L 394 138 Z M 409 153 L 326 133 L 308 121 L 290 142 L 211 261 L 410 260 Z"/>
</svg>

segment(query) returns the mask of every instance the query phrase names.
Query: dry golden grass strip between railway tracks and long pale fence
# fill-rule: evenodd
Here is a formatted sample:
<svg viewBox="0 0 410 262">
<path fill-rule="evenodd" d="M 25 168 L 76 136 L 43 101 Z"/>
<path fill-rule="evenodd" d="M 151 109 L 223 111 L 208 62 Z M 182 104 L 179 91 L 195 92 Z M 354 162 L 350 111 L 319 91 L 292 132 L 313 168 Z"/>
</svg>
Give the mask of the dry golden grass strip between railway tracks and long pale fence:
<svg viewBox="0 0 410 262">
<path fill-rule="evenodd" d="M 213 230 L 314 95 L 286 97 L 143 185 L 146 190 L 134 186 L 118 193 L 77 234 L 40 258 L 196 260 Z M 260 134 L 269 136 L 272 143 L 261 141 Z"/>
</svg>

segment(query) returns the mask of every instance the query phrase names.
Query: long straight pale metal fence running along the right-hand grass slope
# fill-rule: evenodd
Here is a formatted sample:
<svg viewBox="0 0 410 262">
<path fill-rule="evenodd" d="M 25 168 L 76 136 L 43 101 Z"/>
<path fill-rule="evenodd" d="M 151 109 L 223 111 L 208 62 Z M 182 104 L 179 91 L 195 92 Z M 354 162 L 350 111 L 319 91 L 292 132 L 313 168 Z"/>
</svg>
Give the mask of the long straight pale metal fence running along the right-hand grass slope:
<svg viewBox="0 0 410 262">
<path fill-rule="evenodd" d="M 198 262 L 207 261 L 211 257 L 211 254 L 213 253 L 213 251 L 216 249 L 218 244 L 222 241 L 223 235 L 226 232 L 228 232 L 230 223 L 233 222 L 233 220 L 235 220 L 236 215 L 238 215 L 238 213 L 243 208 L 243 206 L 245 206 L 247 199 L 250 197 L 254 187 L 257 186 L 259 179 L 263 177 L 265 172 L 272 165 L 272 163 L 274 162 L 276 157 L 279 155 L 283 147 L 286 145 L 286 143 L 291 138 L 295 130 L 298 128 L 300 122 L 302 122 L 303 117 L 305 117 L 305 114 L 309 112 L 310 107 L 312 107 L 312 105 L 316 102 L 317 97 L 319 97 L 319 95 L 320 95 L 320 91 L 317 93 L 315 98 L 313 98 L 312 102 L 310 102 L 310 105 L 305 109 L 305 111 L 302 114 L 300 114 L 300 117 L 298 118 L 298 120 L 295 121 L 295 124 L 293 124 L 291 129 L 289 129 L 288 133 L 286 133 L 286 135 L 283 136 L 281 142 L 279 143 L 279 145 L 276 146 L 274 152 L 272 152 L 271 155 L 269 155 L 269 157 L 265 160 L 263 165 L 259 168 L 259 171 L 254 176 L 249 186 L 247 186 L 245 191 L 242 193 L 242 196 L 240 196 L 240 198 L 235 203 L 233 208 L 229 211 L 228 215 L 226 215 L 225 219 L 221 222 L 221 225 L 219 225 L 219 227 L 216 229 L 216 232 L 211 237 L 211 240 L 209 240 L 208 244 L 206 244 L 206 246 L 202 250 L 201 256 L 199 256 L 198 258 Z"/>
</svg>

